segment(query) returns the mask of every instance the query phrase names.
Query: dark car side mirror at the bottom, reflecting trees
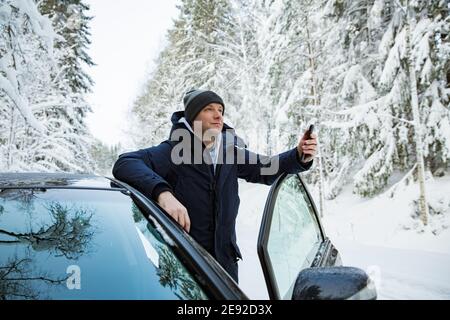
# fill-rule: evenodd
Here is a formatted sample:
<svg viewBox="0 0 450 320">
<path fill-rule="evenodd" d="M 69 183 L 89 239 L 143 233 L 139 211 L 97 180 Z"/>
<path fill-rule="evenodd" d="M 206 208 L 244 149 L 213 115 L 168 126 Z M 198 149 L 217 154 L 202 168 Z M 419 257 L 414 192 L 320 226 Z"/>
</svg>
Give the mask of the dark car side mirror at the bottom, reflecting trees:
<svg viewBox="0 0 450 320">
<path fill-rule="evenodd" d="M 302 270 L 295 281 L 292 300 L 375 300 L 375 284 L 366 272 L 354 267 L 321 267 Z"/>
</svg>

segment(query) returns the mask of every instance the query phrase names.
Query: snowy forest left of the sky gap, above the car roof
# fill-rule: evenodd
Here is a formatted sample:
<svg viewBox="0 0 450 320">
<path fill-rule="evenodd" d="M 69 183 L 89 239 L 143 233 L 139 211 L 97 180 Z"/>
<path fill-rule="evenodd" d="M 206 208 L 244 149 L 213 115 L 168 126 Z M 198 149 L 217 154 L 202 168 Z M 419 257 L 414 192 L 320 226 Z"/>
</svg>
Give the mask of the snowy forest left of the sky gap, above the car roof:
<svg viewBox="0 0 450 320">
<path fill-rule="evenodd" d="M 88 10 L 80 0 L 0 0 L 0 172 L 104 172 L 117 157 L 85 123 Z"/>
</svg>

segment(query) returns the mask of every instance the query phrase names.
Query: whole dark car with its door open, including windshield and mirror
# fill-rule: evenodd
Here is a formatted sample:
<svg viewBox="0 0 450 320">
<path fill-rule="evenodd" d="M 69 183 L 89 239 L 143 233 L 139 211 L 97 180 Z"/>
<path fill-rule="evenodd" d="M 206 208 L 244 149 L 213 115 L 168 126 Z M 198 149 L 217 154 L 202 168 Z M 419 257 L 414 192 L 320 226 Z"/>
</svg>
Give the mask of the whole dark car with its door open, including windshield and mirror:
<svg viewBox="0 0 450 320">
<path fill-rule="evenodd" d="M 375 299 L 343 267 L 298 174 L 272 185 L 257 246 L 270 299 Z M 247 295 L 152 199 L 113 178 L 0 174 L 0 299 Z"/>
</svg>

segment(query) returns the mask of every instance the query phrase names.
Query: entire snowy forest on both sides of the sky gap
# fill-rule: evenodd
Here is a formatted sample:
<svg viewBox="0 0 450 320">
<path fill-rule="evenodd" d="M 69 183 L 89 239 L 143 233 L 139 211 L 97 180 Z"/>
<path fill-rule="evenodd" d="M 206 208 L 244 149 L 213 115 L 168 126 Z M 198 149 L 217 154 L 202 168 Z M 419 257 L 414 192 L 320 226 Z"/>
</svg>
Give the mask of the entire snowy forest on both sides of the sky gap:
<svg viewBox="0 0 450 320">
<path fill-rule="evenodd" d="M 252 150 L 295 146 L 314 123 L 319 154 L 305 175 L 325 200 L 426 185 L 450 160 L 450 5 L 446 0 L 182 0 L 128 135 L 168 138 L 191 88 L 226 104 L 225 122 Z M 93 81 L 89 6 L 0 0 L 0 171 L 109 174 L 122 147 L 86 125 Z M 400 178 L 398 178 L 400 177 Z"/>
</svg>

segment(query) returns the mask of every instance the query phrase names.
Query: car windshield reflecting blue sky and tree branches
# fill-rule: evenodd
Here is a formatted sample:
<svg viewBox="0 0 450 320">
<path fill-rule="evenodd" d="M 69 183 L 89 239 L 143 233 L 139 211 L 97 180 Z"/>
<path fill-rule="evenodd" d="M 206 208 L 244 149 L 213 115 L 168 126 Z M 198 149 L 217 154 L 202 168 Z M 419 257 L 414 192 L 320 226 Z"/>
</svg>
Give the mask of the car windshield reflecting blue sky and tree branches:
<svg viewBox="0 0 450 320">
<path fill-rule="evenodd" d="M 0 299 L 205 299 L 120 191 L 0 193 Z"/>
</svg>

